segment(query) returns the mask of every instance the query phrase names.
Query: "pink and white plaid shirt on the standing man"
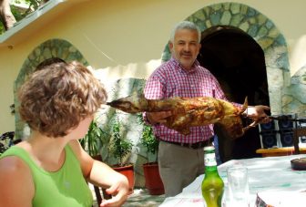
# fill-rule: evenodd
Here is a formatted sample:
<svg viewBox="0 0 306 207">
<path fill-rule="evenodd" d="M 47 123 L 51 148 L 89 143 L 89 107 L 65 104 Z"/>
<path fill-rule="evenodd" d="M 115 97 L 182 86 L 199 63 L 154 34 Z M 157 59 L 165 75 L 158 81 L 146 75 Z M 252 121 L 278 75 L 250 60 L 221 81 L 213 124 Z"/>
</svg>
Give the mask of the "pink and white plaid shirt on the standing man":
<svg viewBox="0 0 306 207">
<path fill-rule="evenodd" d="M 148 99 L 171 97 L 214 97 L 226 99 L 218 80 L 208 69 L 201 67 L 197 60 L 193 67 L 186 71 L 173 57 L 152 73 L 148 78 L 144 93 Z M 174 129 L 168 129 L 160 124 L 154 126 L 154 134 L 160 140 L 196 143 L 209 140 L 214 132 L 213 125 L 191 127 L 190 134 L 185 136 Z"/>
</svg>

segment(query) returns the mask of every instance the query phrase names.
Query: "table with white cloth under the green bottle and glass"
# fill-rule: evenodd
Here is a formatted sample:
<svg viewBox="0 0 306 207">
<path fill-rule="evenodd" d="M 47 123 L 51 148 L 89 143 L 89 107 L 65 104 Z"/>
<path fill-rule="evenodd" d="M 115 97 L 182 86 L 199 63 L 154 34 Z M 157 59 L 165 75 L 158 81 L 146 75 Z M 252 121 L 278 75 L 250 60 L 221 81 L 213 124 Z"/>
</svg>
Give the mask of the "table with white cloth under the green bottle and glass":
<svg viewBox="0 0 306 207">
<path fill-rule="evenodd" d="M 242 163 L 248 168 L 250 185 L 250 207 L 256 201 L 257 193 L 287 193 L 306 190 L 306 171 L 291 170 L 291 160 L 306 157 L 306 155 L 289 155 L 280 157 L 253 158 L 244 160 L 230 160 L 218 166 L 219 175 L 224 181 L 225 191 L 223 205 L 226 206 L 228 193 L 227 169 L 237 163 Z M 204 175 L 200 175 L 195 181 L 183 189 L 177 196 L 169 197 L 159 205 L 160 207 L 185 207 L 206 206 L 202 199 L 201 182 Z M 278 196 L 279 195 L 279 196 Z M 284 197 L 276 194 L 276 198 Z M 228 206 L 226 206 L 228 207 Z M 232 207 L 232 206 L 230 206 Z"/>
</svg>

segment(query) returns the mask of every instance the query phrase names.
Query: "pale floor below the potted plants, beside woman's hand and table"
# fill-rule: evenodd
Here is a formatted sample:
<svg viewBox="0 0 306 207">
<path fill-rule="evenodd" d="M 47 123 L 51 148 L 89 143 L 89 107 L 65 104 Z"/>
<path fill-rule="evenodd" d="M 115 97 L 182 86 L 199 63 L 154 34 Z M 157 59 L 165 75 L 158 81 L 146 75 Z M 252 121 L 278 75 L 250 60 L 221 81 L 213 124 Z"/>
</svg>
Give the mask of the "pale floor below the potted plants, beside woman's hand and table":
<svg viewBox="0 0 306 207">
<path fill-rule="evenodd" d="M 93 190 L 94 199 L 96 198 Z M 133 194 L 128 196 L 127 202 L 123 207 L 158 207 L 165 200 L 165 195 L 149 195 L 147 189 L 134 189 Z M 94 207 L 98 207 L 97 202 L 94 202 Z"/>
</svg>

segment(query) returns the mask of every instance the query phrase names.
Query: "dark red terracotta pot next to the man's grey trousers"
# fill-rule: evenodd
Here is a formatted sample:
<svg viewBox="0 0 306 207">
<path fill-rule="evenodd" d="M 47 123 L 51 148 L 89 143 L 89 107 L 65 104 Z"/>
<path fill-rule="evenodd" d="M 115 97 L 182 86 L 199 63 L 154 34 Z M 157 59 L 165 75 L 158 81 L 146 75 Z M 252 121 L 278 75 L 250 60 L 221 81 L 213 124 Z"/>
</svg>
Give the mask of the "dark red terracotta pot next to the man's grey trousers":
<svg viewBox="0 0 306 207">
<path fill-rule="evenodd" d="M 161 195 L 165 193 L 164 184 L 160 179 L 157 162 L 143 164 L 146 179 L 146 188 L 150 195 Z"/>
</svg>

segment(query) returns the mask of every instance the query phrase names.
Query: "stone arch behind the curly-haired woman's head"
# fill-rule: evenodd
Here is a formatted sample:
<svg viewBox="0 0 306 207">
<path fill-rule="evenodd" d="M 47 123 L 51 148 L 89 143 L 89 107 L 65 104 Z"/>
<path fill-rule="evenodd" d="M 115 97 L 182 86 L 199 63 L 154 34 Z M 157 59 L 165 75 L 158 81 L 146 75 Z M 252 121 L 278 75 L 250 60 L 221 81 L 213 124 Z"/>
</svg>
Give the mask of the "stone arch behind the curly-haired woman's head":
<svg viewBox="0 0 306 207">
<path fill-rule="evenodd" d="M 17 90 L 26 81 L 26 78 L 33 73 L 36 67 L 45 59 L 59 57 L 66 62 L 77 60 L 85 66 L 88 66 L 87 60 L 70 42 L 64 39 L 49 39 L 35 47 L 26 57 L 19 74 L 15 79 L 14 98 L 15 109 L 18 108 Z M 15 113 L 15 138 L 22 139 L 28 134 L 26 124 L 21 121 L 18 113 Z"/>
</svg>

